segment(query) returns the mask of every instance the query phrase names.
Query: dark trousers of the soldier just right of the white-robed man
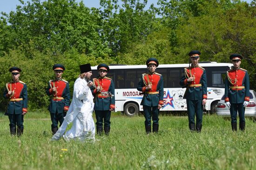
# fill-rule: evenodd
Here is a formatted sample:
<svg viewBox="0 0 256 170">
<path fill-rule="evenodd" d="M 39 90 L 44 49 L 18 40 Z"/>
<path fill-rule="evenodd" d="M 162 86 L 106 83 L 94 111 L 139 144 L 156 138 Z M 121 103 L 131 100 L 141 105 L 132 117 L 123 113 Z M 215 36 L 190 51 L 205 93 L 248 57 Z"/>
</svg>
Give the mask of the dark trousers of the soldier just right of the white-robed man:
<svg viewBox="0 0 256 170">
<path fill-rule="evenodd" d="M 104 119 L 104 126 L 110 127 L 110 116 L 111 111 L 109 110 L 95 110 L 95 116 L 96 116 L 96 127 L 102 127 L 103 126 L 103 119 Z"/>
</svg>

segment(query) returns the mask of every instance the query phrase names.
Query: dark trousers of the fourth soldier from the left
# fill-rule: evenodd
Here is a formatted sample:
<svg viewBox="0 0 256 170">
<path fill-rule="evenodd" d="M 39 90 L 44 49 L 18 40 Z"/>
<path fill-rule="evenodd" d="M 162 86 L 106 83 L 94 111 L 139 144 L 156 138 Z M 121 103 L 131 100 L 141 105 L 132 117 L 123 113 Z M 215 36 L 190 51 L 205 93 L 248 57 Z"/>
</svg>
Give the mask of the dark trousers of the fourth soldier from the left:
<svg viewBox="0 0 256 170">
<path fill-rule="evenodd" d="M 158 114 L 159 109 L 158 106 L 145 106 L 143 105 L 144 117 L 145 117 L 145 126 L 151 126 L 151 117 L 153 120 L 153 124 L 158 124 Z"/>
</svg>

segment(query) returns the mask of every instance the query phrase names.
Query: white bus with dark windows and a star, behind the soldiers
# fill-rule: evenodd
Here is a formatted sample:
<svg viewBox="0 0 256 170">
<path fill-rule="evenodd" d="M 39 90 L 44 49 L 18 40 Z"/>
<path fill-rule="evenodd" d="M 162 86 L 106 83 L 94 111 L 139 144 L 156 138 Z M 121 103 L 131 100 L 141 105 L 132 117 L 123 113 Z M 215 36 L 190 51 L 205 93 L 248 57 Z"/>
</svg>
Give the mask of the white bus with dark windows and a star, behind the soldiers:
<svg viewBox="0 0 256 170">
<path fill-rule="evenodd" d="M 224 78 L 231 63 L 202 62 L 207 75 L 207 102 L 205 109 L 216 112 L 216 106 L 224 94 Z M 183 99 L 186 88 L 180 86 L 185 67 L 189 64 L 160 64 L 156 72 L 163 76 L 164 105 L 160 111 L 186 111 L 186 99 Z M 133 116 L 143 111 L 140 105 L 143 95 L 137 90 L 141 74 L 147 72 L 146 65 L 110 65 L 108 77 L 115 82 L 115 112 L 121 111 Z M 98 76 L 97 66 L 92 67 L 93 78 Z"/>
</svg>

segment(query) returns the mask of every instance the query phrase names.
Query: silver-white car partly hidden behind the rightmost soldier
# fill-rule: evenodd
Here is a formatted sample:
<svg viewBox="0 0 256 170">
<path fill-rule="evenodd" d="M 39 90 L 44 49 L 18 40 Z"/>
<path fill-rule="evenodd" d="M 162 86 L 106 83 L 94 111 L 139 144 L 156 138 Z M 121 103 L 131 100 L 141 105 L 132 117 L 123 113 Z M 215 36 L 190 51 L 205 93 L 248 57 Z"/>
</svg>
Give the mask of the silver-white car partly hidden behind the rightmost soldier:
<svg viewBox="0 0 256 170">
<path fill-rule="evenodd" d="M 225 105 L 225 96 L 222 96 L 222 99 L 217 105 L 217 115 L 219 116 L 230 116 L 229 108 Z M 256 118 L 256 92 L 250 90 L 250 101 L 247 107 L 245 107 L 245 116 L 255 117 Z"/>
</svg>

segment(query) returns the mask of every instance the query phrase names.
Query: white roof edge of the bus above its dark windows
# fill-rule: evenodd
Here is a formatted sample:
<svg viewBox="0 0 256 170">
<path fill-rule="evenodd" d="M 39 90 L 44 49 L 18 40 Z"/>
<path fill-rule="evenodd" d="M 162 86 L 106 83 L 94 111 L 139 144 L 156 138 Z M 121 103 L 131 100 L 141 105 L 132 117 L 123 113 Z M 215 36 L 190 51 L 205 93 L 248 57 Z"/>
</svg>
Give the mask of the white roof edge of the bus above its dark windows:
<svg viewBox="0 0 256 170">
<path fill-rule="evenodd" d="M 232 63 L 216 63 L 216 62 L 211 62 L 211 63 L 199 63 L 201 67 L 223 67 L 223 66 L 228 66 L 231 67 L 233 66 Z M 157 68 L 185 68 L 189 67 L 189 64 L 159 64 Z M 144 65 L 110 65 L 109 69 L 146 69 L 147 66 L 146 64 Z M 92 70 L 97 69 L 97 66 L 93 66 Z"/>
</svg>

